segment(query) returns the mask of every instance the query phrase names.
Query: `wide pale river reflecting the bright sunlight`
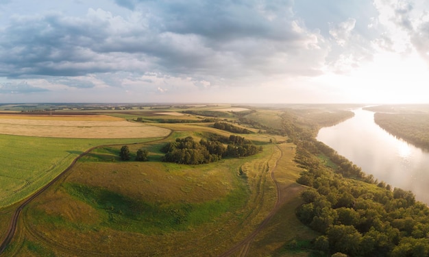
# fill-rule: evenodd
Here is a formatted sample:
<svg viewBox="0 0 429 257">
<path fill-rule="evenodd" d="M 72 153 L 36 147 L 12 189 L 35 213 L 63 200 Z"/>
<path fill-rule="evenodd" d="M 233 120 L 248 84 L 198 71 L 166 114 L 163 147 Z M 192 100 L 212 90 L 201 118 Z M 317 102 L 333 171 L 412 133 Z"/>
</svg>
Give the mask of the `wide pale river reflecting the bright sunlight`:
<svg viewBox="0 0 429 257">
<path fill-rule="evenodd" d="M 317 140 L 379 182 L 413 191 L 417 200 L 429 204 L 429 153 L 382 130 L 374 122 L 374 112 L 352 111 L 352 119 L 319 130 Z"/>
</svg>

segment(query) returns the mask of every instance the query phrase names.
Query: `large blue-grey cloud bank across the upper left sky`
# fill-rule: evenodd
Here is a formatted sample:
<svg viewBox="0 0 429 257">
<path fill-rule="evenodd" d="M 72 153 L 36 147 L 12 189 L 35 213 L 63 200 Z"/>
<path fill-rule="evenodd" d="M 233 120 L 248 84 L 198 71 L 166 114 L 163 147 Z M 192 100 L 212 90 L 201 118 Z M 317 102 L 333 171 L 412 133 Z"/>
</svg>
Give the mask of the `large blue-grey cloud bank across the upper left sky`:
<svg viewBox="0 0 429 257">
<path fill-rule="evenodd" d="M 116 3 L 134 11 L 13 16 L 0 35 L 0 76 L 129 71 L 215 82 L 255 74 L 311 76 L 326 56 L 323 37 L 293 16 L 293 1 Z"/>
</svg>

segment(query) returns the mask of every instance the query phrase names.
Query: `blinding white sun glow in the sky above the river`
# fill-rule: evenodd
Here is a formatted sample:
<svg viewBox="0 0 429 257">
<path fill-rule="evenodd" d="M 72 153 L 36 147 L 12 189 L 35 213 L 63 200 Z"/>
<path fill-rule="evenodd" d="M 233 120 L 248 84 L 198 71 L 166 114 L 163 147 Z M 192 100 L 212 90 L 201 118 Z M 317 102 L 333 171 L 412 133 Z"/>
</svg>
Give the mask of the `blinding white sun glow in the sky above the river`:
<svg viewBox="0 0 429 257">
<path fill-rule="evenodd" d="M 428 64 L 413 52 L 407 56 L 383 51 L 373 61 L 344 74 L 325 73 L 314 82 L 332 97 L 361 103 L 422 103 L 429 95 Z"/>
</svg>

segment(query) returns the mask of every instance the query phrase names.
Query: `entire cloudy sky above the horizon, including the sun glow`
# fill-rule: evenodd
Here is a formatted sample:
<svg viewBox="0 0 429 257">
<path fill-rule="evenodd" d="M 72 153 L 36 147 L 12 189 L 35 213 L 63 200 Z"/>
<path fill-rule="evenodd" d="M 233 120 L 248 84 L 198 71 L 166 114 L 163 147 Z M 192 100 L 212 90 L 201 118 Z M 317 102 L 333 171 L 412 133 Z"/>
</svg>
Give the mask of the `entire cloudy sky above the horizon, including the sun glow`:
<svg viewBox="0 0 429 257">
<path fill-rule="evenodd" d="M 426 0 L 0 0 L 0 103 L 429 103 Z"/>
</svg>

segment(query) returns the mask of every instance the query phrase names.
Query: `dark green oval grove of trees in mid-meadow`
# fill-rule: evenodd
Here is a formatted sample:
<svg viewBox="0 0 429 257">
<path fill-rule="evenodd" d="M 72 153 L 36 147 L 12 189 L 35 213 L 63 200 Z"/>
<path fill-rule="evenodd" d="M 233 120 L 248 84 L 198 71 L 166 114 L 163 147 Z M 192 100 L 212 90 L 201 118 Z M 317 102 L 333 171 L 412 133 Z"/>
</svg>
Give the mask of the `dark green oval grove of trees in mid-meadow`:
<svg viewBox="0 0 429 257">
<path fill-rule="evenodd" d="M 228 144 L 225 147 L 224 144 Z M 192 136 L 176 138 L 175 142 L 167 143 L 161 151 L 165 153 L 164 162 L 180 164 L 204 164 L 216 162 L 225 157 L 245 157 L 258 154 L 262 147 L 241 136 L 213 136 L 209 140 L 195 141 Z"/>
</svg>

